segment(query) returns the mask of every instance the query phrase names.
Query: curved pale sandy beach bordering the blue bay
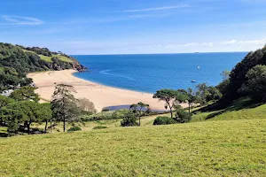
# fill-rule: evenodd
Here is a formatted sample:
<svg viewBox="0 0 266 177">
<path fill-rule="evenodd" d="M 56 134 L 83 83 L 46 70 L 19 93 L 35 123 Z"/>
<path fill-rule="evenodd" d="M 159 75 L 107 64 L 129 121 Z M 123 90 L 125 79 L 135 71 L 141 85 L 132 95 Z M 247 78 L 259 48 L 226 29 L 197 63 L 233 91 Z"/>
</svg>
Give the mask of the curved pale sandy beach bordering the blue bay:
<svg viewBox="0 0 266 177">
<path fill-rule="evenodd" d="M 51 95 L 55 86 L 60 83 L 74 86 L 77 91 L 76 98 L 88 98 L 96 106 L 100 112 L 106 106 L 137 104 L 144 102 L 150 104 L 151 109 L 164 110 L 165 103 L 153 99 L 153 94 L 142 93 L 127 89 L 117 89 L 91 81 L 82 80 L 74 77 L 74 70 L 63 71 L 49 71 L 43 73 L 28 73 L 27 77 L 32 78 L 35 82 L 36 93 L 38 93 L 43 100 L 51 100 Z"/>
</svg>

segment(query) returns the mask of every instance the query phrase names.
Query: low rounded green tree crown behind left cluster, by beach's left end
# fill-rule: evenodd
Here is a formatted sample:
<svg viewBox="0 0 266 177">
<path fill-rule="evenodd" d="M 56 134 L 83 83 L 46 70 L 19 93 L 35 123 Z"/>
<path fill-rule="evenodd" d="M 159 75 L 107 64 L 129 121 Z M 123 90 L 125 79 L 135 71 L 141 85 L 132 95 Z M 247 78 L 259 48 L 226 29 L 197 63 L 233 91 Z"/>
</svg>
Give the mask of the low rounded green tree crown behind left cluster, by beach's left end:
<svg viewBox="0 0 266 177">
<path fill-rule="evenodd" d="M 12 92 L 10 97 L 16 101 L 35 101 L 40 100 L 39 95 L 35 94 L 35 88 L 23 87 Z"/>
</svg>

